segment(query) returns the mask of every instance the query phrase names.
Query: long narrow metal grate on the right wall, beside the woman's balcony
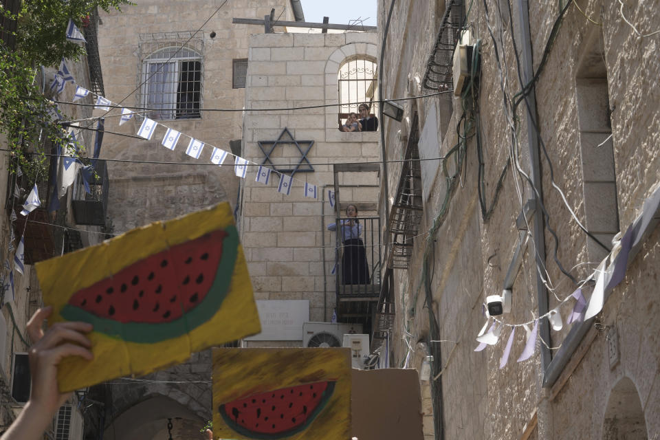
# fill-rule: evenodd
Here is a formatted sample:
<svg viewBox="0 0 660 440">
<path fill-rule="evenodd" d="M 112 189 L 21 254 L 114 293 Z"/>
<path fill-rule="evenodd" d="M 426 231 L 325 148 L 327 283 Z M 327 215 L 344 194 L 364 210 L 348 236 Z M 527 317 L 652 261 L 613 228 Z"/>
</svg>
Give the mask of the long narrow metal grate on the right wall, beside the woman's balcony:
<svg viewBox="0 0 660 440">
<path fill-rule="evenodd" d="M 395 203 L 390 214 L 389 232 L 392 234 L 392 249 L 388 267 L 408 269 L 412 256 L 412 245 L 419 231 L 423 213 L 421 192 L 421 166 L 419 164 L 418 117 L 412 118 L 412 128 L 408 136 L 406 155 L 401 169 L 401 177 Z"/>
</svg>

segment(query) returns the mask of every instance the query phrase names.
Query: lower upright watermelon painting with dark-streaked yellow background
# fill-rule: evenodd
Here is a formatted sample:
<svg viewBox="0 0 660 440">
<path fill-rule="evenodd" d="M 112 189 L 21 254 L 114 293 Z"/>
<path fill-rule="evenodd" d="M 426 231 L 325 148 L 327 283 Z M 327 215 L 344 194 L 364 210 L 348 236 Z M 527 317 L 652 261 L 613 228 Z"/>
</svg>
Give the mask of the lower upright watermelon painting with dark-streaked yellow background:
<svg viewBox="0 0 660 440">
<path fill-rule="evenodd" d="M 213 373 L 217 438 L 350 438 L 347 349 L 215 349 Z"/>
</svg>

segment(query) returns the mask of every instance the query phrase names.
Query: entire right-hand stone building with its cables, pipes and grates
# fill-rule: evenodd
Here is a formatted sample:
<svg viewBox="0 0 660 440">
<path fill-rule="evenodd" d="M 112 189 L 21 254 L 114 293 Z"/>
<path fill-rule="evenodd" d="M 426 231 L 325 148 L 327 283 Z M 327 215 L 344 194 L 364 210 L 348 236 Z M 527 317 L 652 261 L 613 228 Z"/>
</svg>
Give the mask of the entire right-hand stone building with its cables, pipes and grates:
<svg viewBox="0 0 660 440">
<path fill-rule="evenodd" d="M 657 438 L 660 4 L 379 3 L 384 96 L 410 98 L 400 124 L 384 121 L 393 246 L 380 305 L 396 307 L 392 364 L 430 362 L 426 436 Z M 399 157 L 443 159 L 387 162 Z M 610 285 L 621 252 L 597 267 L 631 225 Z M 567 324 L 578 287 L 589 309 L 604 292 L 604 307 Z M 505 289 L 511 311 L 492 333 L 486 298 Z M 496 342 L 483 349 L 487 321 Z M 538 338 L 516 362 L 528 333 L 511 326 L 524 323 Z"/>
</svg>

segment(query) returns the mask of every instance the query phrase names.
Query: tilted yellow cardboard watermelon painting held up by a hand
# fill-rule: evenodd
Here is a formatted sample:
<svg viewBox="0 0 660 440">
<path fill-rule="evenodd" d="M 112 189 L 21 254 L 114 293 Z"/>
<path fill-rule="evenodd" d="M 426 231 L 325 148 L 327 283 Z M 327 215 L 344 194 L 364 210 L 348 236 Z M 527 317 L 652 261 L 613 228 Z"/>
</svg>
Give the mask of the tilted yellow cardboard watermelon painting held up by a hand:
<svg viewBox="0 0 660 440">
<path fill-rule="evenodd" d="M 228 203 L 36 265 L 52 322 L 94 325 L 94 360 L 68 358 L 61 391 L 142 375 L 259 333 Z"/>
</svg>

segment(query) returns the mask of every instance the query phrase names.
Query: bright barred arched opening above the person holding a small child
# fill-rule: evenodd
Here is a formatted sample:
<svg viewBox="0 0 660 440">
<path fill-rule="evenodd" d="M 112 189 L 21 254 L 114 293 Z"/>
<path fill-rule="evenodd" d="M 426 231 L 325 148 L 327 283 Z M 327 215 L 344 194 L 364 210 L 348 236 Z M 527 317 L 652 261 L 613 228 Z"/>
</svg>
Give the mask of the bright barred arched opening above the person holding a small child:
<svg viewBox="0 0 660 440">
<path fill-rule="evenodd" d="M 339 83 L 339 123 L 344 124 L 349 113 L 358 113 L 362 102 L 369 103 L 371 113 L 377 112 L 377 103 L 373 103 L 378 89 L 378 72 L 375 61 L 358 58 L 344 63 L 338 73 Z"/>
</svg>

